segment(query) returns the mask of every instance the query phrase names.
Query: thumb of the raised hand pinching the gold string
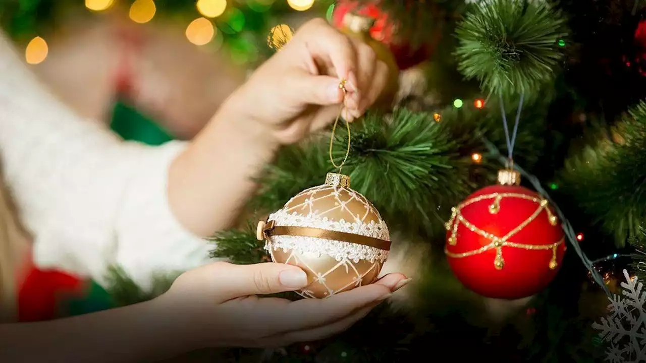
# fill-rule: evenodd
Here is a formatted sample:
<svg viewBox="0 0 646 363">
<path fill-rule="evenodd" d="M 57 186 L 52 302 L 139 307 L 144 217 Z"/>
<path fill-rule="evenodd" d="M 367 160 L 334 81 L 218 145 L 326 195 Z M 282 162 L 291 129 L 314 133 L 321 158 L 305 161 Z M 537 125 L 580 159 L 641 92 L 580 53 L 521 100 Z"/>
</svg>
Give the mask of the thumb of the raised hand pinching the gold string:
<svg viewBox="0 0 646 363">
<path fill-rule="evenodd" d="M 313 76 L 299 74 L 295 77 L 296 90 L 293 94 L 308 105 L 338 105 L 343 101 L 343 90 L 339 87 L 339 78 L 330 76 Z"/>
</svg>

